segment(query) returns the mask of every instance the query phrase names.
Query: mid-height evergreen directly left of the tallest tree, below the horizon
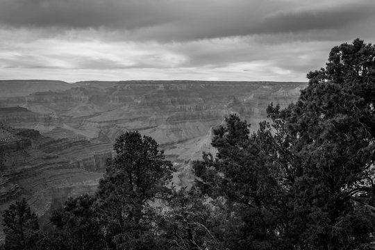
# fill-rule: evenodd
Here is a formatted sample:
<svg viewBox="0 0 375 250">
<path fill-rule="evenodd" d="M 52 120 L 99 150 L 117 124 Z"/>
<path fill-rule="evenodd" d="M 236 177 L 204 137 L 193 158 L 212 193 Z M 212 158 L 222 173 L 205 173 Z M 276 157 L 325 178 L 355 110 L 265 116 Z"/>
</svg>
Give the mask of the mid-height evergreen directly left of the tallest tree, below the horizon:
<svg viewBox="0 0 375 250">
<path fill-rule="evenodd" d="M 230 249 L 292 249 L 280 237 L 288 218 L 282 201 L 288 196 L 278 182 L 277 153 L 265 125 L 249 135 L 247 122 L 231 115 L 225 127 L 214 131 L 217 158 L 206 154 L 193 166 L 201 178 L 201 190 L 214 199 L 224 199 L 231 209 L 231 223 L 223 225 L 225 232 L 237 232 L 224 238 Z"/>
</svg>

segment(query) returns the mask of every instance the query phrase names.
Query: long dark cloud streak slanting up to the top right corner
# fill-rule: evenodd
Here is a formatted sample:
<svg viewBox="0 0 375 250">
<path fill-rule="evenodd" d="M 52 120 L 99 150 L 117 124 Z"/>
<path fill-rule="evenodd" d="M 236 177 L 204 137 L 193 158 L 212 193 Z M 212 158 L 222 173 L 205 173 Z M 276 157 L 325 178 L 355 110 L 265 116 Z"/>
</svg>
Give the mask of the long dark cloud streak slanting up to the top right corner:
<svg viewBox="0 0 375 250">
<path fill-rule="evenodd" d="M 135 33 L 142 39 L 199 40 L 230 36 L 307 33 L 313 30 L 342 30 L 374 17 L 374 3 L 356 3 L 329 8 L 297 10 L 253 10 L 248 4 L 242 9 L 214 12 L 207 16 L 180 20 Z M 272 8 L 271 8 L 272 10 Z M 318 37 L 317 37 L 318 38 Z"/>
</svg>

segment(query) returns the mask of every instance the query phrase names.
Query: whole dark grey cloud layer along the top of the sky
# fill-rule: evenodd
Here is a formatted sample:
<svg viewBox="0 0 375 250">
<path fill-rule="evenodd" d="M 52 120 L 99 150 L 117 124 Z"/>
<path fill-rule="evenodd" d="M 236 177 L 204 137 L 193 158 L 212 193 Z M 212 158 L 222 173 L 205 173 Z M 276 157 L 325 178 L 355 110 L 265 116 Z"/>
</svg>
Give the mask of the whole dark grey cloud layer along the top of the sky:
<svg viewBox="0 0 375 250">
<path fill-rule="evenodd" d="M 371 17 L 375 6 L 331 3 L 316 8 L 285 0 L 0 0 L 0 24 L 101 27 L 128 40 L 183 41 L 340 29 Z"/>
</svg>

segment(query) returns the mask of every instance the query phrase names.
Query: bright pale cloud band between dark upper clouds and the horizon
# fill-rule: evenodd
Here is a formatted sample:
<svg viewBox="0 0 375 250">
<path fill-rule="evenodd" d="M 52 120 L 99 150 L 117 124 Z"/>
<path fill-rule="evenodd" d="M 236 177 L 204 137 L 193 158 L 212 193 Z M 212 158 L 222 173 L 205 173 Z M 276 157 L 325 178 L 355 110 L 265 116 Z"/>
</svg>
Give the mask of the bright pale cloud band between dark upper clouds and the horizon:
<svg viewBox="0 0 375 250">
<path fill-rule="evenodd" d="M 17 78 L 81 81 L 106 80 L 112 72 L 110 79 L 117 80 L 163 79 L 163 76 L 165 79 L 304 81 L 308 70 L 324 64 L 324 57 L 315 60 L 310 56 L 319 55 L 313 50 L 324 51 L 322 47 L 329 48 L 332 44 L 256 44 L 252 39 L 239 37 L 168 44 L 40 39 L 0 43 L 0 76 L 6 78 L 18 71 Z"/>
</svg>

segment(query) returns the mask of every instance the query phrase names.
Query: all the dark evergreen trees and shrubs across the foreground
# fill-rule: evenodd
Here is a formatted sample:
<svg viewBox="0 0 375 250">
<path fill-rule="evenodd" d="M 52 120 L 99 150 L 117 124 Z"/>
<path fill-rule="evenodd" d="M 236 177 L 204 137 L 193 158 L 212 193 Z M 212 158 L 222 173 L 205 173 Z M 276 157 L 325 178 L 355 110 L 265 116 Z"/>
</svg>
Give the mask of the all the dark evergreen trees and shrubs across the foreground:
<svg viewBox="0 0 375 250">
<path fill-rule="evenodd" d="M 288 108 L 249 133 L 231 115 L 191 190 L 152 138 L 121 135 L 94 197 L 69 198 L 38 231 L 26 201 L 4 213 L 6 249 L 372 249 L 375 47 L 331 50 Z"/>
</svg>

